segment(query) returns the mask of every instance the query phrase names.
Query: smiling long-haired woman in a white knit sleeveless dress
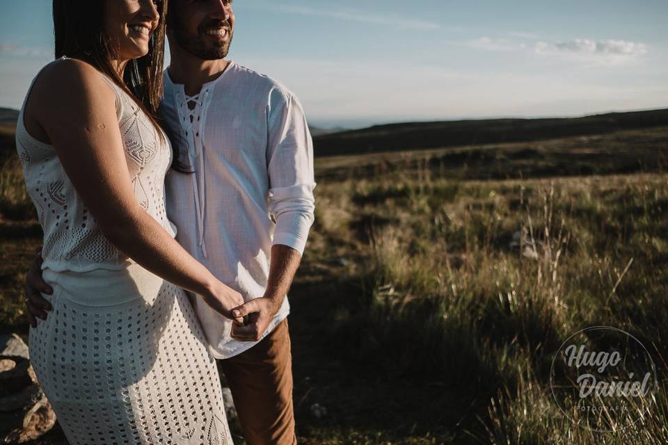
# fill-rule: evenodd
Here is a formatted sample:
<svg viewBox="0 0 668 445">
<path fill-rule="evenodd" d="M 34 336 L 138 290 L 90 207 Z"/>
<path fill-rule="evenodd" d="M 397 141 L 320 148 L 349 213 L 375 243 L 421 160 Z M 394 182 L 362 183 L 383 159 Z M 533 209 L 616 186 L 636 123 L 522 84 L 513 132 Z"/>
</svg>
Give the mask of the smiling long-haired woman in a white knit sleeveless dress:
<svg viewBox="0 0 668 445">
<path fill-rule="evenodd" d="M 54 0 L 60 60 L 35 76 L 17 122 L 54 288 L 31 362 L 71 444 L 232 442 L 181 288 L 228 317 L 243 299 L 165 215 L 173 156 L 153 117 L 165 13 L 166 0 Z"/>
</svg>

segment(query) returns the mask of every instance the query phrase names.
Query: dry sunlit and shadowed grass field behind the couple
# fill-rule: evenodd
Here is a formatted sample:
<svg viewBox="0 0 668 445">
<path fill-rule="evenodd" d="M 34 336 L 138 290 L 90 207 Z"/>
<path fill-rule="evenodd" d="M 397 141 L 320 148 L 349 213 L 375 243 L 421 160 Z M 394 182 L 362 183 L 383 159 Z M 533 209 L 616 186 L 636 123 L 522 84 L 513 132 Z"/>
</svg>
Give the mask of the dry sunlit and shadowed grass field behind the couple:
<svg viewBox="0 0 668 445">
<path fill-rule="evenodd" d="M 289 293 L 300 442 L 668 443 L 667 156 L 656 127 L 317 157 Z M 2 162 L 0 330 L 25 335 L 41 232 L 19 162 Z M 618 433 L 578 428 L 548 389 L 555 350 L 591 325 L 658 364 L 637 401 L 651 415 Z"/>
</svg>

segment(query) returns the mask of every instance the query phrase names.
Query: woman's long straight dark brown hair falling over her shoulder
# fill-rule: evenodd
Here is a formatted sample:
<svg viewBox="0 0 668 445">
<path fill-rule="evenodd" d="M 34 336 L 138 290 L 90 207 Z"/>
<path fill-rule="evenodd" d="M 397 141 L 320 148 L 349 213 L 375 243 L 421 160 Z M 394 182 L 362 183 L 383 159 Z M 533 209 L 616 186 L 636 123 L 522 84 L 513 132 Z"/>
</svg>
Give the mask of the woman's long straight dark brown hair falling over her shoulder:
<svg viewBox="0 0 668 445">
<path fill-rule="evenodd" d="M 114 1 L 114 0 L 105 0 Z M 158 108 L 163 92 L 163 62 L 165 49 L 165 17 L 168 0 L 158 0 L 160 22 L 151 35 L 148 53 L 131 60 L 123 76 L 113 68 L 111 61 L 118 56 L 117 44 L 104 31 L 104 1 L 54 0 L 54 37 L 56 58 L 79 58 L 109 76 L 119 88 L 134 99 L 146 113 L 157 133 L 164 133 L 158 124 Z M 173 147 L 172 167 L 183 170 Z"/>
</svg>

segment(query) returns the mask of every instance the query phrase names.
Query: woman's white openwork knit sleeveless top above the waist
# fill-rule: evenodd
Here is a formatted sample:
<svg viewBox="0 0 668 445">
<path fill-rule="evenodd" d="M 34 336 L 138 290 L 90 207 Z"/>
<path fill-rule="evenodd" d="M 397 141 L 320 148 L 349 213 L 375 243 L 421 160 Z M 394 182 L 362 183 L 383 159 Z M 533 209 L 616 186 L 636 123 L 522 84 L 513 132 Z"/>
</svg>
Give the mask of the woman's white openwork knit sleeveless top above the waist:
<svg viewBox="0 0 668 445">
<path fill-rule="evenodd" d="M 55 60 L 51 63 L 59 63 Z M 43 70 L 44 68 L 42 68 Z M 33 138 L 24 126 L 24 108 L 35 80 L 26 93 L 16 125 L 16 148 L 28 193 L 44 231 L 42 269 L 54 272 L 120 270 L 136 262 L 120 252 L 100 232 L 52 145 Z M 134 194 L 141 207 L 171 236 L 176 227 L 165 212 L 164 179 L 172 150 L 164 133 L 157 133 L 148 116 L 125 91 L 100 72 L 116 93 L 116 115 Z"/>
</svg>

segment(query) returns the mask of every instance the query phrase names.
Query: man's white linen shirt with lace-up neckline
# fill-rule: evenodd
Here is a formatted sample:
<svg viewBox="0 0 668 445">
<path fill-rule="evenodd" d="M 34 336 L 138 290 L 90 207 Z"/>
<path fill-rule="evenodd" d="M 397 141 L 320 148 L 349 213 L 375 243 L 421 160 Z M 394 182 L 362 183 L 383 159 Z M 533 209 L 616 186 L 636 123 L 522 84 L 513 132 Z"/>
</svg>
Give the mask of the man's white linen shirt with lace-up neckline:
<svg viewBox="0 0 668 445">
<path fill-rule="evenodd" d="M 166 176 L 176 239 L 245 301 L 262 297 L 271 245 L 303 254 L 314 220 L 313 147 L 301 104 L 277 81 L 232 61 L 193 97 L 167 71 L 164 83 L 161 117 L 181 138 L 181 163 L 194 171 Z M 202 298 L 191 294 L 191 302 L 214 357 L 257 343 L 232 339 L 232 321 Z M 285 296 L 262 337 L 288 313 Z"/>
</svg>

